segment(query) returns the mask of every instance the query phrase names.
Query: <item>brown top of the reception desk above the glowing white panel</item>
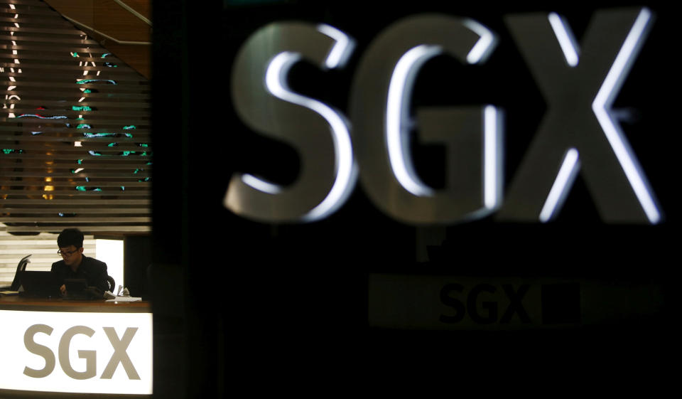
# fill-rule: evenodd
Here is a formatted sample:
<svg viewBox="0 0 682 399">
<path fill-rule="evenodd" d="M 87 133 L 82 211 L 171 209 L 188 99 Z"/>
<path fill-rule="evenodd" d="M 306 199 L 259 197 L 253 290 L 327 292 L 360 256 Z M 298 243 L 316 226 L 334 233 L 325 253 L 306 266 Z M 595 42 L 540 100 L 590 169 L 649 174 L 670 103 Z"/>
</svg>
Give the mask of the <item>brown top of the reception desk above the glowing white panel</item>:
<svg viewBox="0 0 682 399">
<path fill-rule="evenodd" d="M 104 299 L 90 301 L 74 299 L 39 299 L 18 295 L 0 295 L 1 310 L 23 310 L 33 312 L 102 312 L 102 313 L 151 313 L 148 301 L 107 302 Z"/>
</svg>

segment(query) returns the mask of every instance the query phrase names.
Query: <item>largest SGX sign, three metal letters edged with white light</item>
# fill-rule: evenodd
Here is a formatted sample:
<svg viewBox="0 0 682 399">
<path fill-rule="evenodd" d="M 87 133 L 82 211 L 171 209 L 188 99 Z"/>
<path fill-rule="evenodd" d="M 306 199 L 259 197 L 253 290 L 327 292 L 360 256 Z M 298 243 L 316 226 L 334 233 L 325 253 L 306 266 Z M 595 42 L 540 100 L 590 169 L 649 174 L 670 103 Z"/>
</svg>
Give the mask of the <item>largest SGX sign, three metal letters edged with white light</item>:
<svg viewBox="0 0 682 399">
<path fill-rule="evenodd" d="M 224 204 L 254 220 L 319 220 L 342 206 L 359 174 L 374 204 L 405 223 L 456 223 L 496 211 L 502 220 L 546 222 L 580 171 L 607 223 L 659 223 L 654 192 L 610 114 L 652 21 L 649 9 L 596 11 L 578 46 L 558 14 L 505 17 L 548 111 L 504 203 L 499 107 L 421 108 L 415 120 L 409 117 L 421 65 L 441 54 L 480 64 L 494 50 L 495 33 L 470 18 L 437 14 L 389 26 L 359 61 L 350 124 L 286 83 L 301 60 L 342 68 L 353 50 L 349 36 L 327 25 L 271 23 L 239 50 L 232 100 L 249 128 L 296 148 L 301 172 L 289 186 L 234 174 Z M 447 147 L 445 188 L 431 188 L 417 176 L 408 144 L 414 127 L 420 139 Z"/>
</svg>

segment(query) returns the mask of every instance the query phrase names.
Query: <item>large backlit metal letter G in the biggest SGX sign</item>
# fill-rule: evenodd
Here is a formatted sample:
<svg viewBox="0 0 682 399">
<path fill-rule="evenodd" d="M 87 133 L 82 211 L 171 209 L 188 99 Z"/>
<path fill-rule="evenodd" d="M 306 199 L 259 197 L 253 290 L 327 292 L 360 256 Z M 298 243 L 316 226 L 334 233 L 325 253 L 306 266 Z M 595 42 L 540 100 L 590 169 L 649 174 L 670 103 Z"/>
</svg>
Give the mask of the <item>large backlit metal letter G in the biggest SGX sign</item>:
<svg viewBox="0 0 682 399">
<path fill-rule="evenodd" d="M 375 205 L 406 223 L 478 218 L 502 201 L 502 121 L 492 105 L 423 107 L 411 115 L 413 83 L 437 55 L 482 63 L 497 42 L 467 18 L 408 17 L 371 43 L 354 78 L 350 115 L 360 179 Z M 443 76 L 443 79 L 452 79 Z M 453 93 L 454 94 L 454 93 Z M 412 164 L 411 132 L 447 148 L 445 188 L 434 189 Z"/>
</svg>

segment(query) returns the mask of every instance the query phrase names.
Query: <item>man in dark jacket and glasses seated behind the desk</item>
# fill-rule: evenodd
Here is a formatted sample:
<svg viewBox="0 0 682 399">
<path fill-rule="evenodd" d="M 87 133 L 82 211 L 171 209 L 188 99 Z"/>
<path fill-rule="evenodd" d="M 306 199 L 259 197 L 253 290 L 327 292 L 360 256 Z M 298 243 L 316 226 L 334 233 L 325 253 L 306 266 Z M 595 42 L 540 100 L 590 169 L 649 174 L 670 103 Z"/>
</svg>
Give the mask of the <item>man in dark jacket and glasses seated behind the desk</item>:
<svg viewBox="0 0 682 399">
<path fill-rule="evenodd" d="M 102 292 L 109 289 L 107 282 L 107 264 L 83 255 L 83 233 L 77 228 L 65 228 L 57 238 L 62 257 L 59 262 L 52 264 L 52 272 L 57 276 L 60 292 L 65 295 L 67 279 L 85 279 L 88 287 L 97 287 Z"/>
</svg>

